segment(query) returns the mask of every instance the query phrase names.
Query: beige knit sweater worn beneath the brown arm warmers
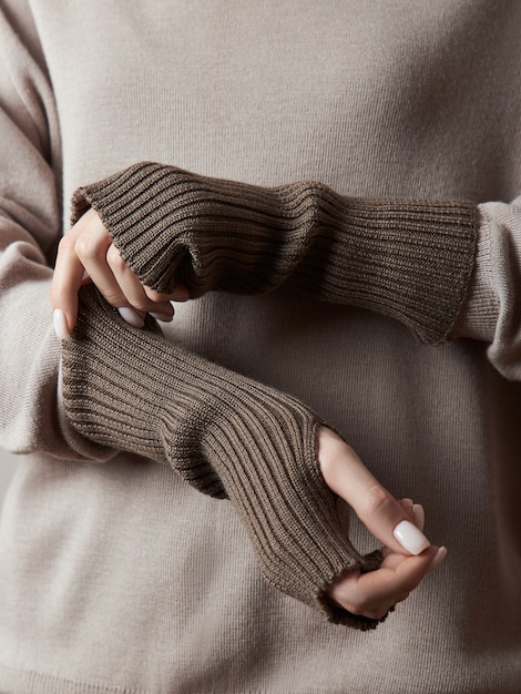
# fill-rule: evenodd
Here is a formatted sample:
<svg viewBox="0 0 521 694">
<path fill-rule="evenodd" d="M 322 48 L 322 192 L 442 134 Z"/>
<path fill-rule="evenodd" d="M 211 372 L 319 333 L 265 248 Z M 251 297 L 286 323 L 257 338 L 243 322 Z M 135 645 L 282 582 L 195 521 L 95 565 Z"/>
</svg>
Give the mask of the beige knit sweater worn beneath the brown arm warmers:
<svg viewBox="0 0 521 694">
<path fill-rule="evenodd" d="M 0 691 L 518 692 L 519 3 L 0 8 L 0 426 L 27 453 L 0 533 Z M 268 585 L 228 501 L 114 457 L 58 405 L 48 290 L 72 193 L 143 161 L 478 206 L 449 344 L 290 285 L 211 292 L 168 329 L 296 396 L 425 504 L 450 559 L 376 631 Z"/>
</svg>

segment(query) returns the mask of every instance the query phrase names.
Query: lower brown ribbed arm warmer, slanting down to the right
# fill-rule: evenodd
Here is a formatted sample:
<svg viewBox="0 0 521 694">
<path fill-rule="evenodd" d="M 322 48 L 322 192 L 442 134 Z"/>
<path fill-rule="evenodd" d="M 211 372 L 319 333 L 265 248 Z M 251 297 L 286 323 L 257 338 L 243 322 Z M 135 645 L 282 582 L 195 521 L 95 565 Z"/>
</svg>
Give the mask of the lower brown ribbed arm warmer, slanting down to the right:
<svg viewBox="0 0 521 694">
<path fill-rule="evenodd" d="M 67 415 L 83 436 L 170 463 L 200 491 L 227 497 L 264 575 L 337 623 L 371 629 L 326 596 L 345 572 L 375 569 L 346 537 L 319 471 L 319 419 L 298 400 L 127 326 L 93 286 L 63 344 Z"/>
</svg>

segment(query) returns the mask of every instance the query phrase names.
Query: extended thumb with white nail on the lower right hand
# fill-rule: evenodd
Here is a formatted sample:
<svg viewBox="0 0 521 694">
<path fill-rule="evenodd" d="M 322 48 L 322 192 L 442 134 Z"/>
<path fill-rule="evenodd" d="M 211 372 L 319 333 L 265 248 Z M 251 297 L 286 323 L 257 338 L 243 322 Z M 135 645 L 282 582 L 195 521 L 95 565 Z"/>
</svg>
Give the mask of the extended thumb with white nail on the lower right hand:
<svg viewBox="0 0 521 694">
<path fill-rule="evenodd" d="M 430 547 L 402 506 L 369 472 L 353 448 L 325 427 L 318 431 L 318 462 L 329 489 L 347 501 L 386 547 L 409 554 L 420 554 Z"/>
</svg>

